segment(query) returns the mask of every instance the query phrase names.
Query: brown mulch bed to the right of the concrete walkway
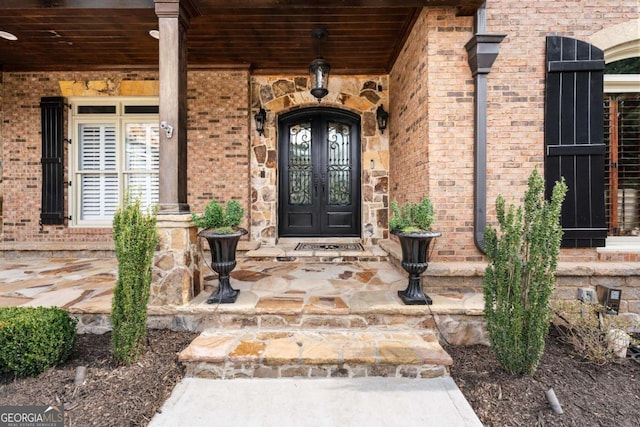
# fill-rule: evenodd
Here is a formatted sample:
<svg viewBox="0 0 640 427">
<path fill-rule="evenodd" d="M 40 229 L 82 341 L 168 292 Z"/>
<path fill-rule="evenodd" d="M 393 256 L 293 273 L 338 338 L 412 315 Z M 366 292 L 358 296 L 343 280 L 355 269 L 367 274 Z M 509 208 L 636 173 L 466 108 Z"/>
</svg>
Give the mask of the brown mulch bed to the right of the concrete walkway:
<svg viewBox="0 0 640 427">
<path fill-rule="evenodd" d="M 503 371 L 488 347 L 447 347 L 451 377 L 486 426 L 640 426 L 640 365 L 619 359 L 588 363 L 554 330 L 533 375 Z M 551 410 L 553 388 L 564 414 Z"/>
</svg>

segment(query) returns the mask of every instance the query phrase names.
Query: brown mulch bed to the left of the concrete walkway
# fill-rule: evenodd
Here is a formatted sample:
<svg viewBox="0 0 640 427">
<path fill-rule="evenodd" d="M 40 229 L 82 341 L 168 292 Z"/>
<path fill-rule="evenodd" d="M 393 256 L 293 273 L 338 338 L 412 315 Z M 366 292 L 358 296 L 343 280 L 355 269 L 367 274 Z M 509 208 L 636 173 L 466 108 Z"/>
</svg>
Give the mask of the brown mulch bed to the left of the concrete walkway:
<svg viewBox="0 0 640 427">
<path fill-rule="evenodd" d="M 136 363 L 116 366 L 111 334 L 78 335 L 74 353 L 64 364 L 35 378 L 0 377 L 2 405 L 60 405 L 65 426 L 145 426 L 183 377 L 177 353 L 198 334 L 149 331 L 149 350 Z M 74 385 L 78 366 L 86 381 Z"/>
</svg>

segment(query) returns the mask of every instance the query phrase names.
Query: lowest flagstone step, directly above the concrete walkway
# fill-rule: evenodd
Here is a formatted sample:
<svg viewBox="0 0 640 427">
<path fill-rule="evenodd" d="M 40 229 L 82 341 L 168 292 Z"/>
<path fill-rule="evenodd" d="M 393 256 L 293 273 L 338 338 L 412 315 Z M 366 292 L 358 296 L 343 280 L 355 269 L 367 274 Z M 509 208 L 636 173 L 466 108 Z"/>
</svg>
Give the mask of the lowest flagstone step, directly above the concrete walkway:
<svg viewBox="0 0 640 427">
<path fill-rule="evenodd" d="M 179 355 L 202 378 L 406 377 L 448 374 L 433 331 L 208 329 Z"/>
</svg>

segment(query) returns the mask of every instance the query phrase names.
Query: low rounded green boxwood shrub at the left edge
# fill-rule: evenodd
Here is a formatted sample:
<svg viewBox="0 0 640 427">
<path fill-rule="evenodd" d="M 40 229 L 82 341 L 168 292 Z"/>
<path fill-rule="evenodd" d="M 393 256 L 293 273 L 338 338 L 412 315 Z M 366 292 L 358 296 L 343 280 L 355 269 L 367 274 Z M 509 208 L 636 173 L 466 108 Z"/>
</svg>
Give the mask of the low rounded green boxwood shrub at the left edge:
<svg viewBox="0 0 640 427">
<path fill-rule="evenodd" d="M 0 372 L 38 375 L 67 360 L 77 319 L 56 307 L 0 308 Z"/>
</svg>

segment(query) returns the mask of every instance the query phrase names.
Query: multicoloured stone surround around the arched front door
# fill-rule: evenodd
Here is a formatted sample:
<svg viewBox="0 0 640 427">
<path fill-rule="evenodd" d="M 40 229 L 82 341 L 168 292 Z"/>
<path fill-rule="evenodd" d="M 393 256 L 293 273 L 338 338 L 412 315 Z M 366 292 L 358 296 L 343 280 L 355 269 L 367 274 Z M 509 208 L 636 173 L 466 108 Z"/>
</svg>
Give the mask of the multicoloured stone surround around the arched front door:
<svg viewBox="0 0 640 427">
<path fill-rule="evenodd" d="M 251 107 L 267 110 L 264 135 L 251 132 L 251 240 L 267 244 L 278 237 L 278 116 L 296 108 L 317 107 L 308 77 L 252 76 Z M 389 107 L 387 76 L 331 76 L 323 107 L 361 116 L 362 238 L 366 244 L 388 237 L 389 142 L 376 124 L 378 105 Z M 391 119 L 393 120 L 393 119 Z M 373 168 L 371 168 L 373 161 Z"/>
</svg>

